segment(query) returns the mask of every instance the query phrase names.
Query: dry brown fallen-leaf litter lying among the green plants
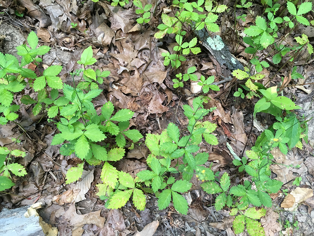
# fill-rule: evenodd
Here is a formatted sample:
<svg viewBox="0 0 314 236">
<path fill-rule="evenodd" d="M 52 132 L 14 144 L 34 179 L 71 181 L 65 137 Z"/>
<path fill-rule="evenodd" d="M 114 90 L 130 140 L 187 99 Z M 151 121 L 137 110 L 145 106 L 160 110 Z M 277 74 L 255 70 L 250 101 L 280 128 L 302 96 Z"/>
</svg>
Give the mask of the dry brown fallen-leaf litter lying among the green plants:
<svg viewBox="0 0 314 236">
<path fill-rule="evenodd" d="M 102 68 L 103 70 L 111 71 L 111 76 L 109 77 L 108 81 L 105 82 L 104 87 L 109 93 L 107 98 L 104 96 L 104 94 L 97 98 L 98 100 L 95 101 L 95 106 L 101 106 L 102 104 L 106 103 L 107 100 L 111 100 L 118 108 L 128 108 L 133 110 L 136 112 L 136 114 L 135 118 L 132 119 L 131 124 L 134 126 L 141 126 L 145 129 L 145 132 L 160 132 L 160 128 L 165 128 L 167 126 L 167 119 L 165 118 L 165 120 L 161 122 L 161 125 L 158 123 L 157 126 L 157 119 L 155 118 L 157 116 L 154 116 L 154 114 L 159 114 L 158 119 L 159 116 L 162 118 L 165 113 L 171 117 L 171 119 L 174 119 L 178 110 L 180 113 L 180 109 L 177 109 L 177 107 L 180 107 L 180 102 L 178 101 L 179 99 L 174 98 L 173 95 L 177 96 L 176 94 L 172 94 L 172 92 L 175 91 L 172 90 L 171 83 L 169 83 L 169 81 L 171 81 L 169 78 L 169 73 L 167 73 L 165 70 L 165 66 L 161 60 L 161 52 L 164 49 L 158 49 L 156 46 L 157 41 L 153 37 L 155 31 L 143 32 L 143 29 L 141 30 L 138 25 L 134 24 L 133 19 L 137 17 L 137 14 L 135 14 L 133 8 L 115 8 L 109 4 L 99 2 L 94 6 L 95 11 L 92 11 L 93 7 L 91 7 L 88 3 L 83 4 L 76 1 L 61 2 L 58 0 L 40 0 L 39 6 L 46 9 L 47 15 L 49 15 L 51 19 L 50 22 L 46 14 L 41 12 L 38 6 L 36 6 L 34 3 L 28 2 L 26 0 L 21 2 L 23 2 L 22 4 L 28 9 L 28 15 L 39 20 L 40 24 L 37 30 L 37 35 L 41 38 L 42 43 L 51 43 L 58 47 L 58 49 L 55 49 L 54 53 L 52 52 L 50 59 L 48 58 L 45 59 L 46 61 L 44 60 L 47 65 L 50 63 L 54 63 L 53 65 L 56 63 L 62 63 L 63 65 L 67 65 L 67 71 L 72 71 L 73 69 L 75 70 L 75 67 L 77 66 L 76 58 L 79 56 L 75 55 L 75 53 L 83 51 L 80 49 L 84 47 L 83 42 L 89 42 L 94 46 L 102 47 L 98 52 L 95 53 L 97 53 L 96 55 L 99 55 L 100 59 L 98 67 Z M 152 4 L 154 5 L 154 3 Z M 248 24 L 249 22 L 252 22 L 253 18 L 254 17 L 252 16 L 247 17 L 246 21 L 242 23 L 241 27 Z M 106 20 L 107 24 L 104 23 L 104 20 Z M 24 24 L 27 25 L 28 22 L 27 20 L 25 21 L 26 22 L 24 22 Z M 71 29 L 71 22 L 77 22 L 77 29 L 80 31 Z M 86 29 L 87 23 L 89 24 L 89 28 L 85 34 L 83 31 Z M 5 24 L 6 23 L 3 23 L 3 25 Z M 110 27 L 108 25 L 110 25 Z M 231 25 L 232 24 L 226 20 L 223 27 L 225 30 L 228 30 L 233 27 Z M 298 30 L 300 32 L 304 32 L 307 29 Z M 0 32 L 3 31 L 0 29 Z M 12 34 L 13 32 L 11 32 L 11 35 Z M 167 40 L 170 42 L 171 38 L 168 38 Z M 291 41 L 291 39 L 287 39 L 287 41 L 289 40 Z M 24 39 L 20 37 L 19 41 L 23 42 Z M 66 54 L 64 51 L 67 49 L 69 52 L 68 54 Z M 243 49 L 244 47 L 242 47 L 242 50 Z M 65 54 L 67 57 L 60 58 L 60 55 Z M 55 62 L 53 62 L 54 59 L 56 59 Z M 245 60 L 248 60 L 248 58 Z M 301 60 L 299 60 L 299 63 L 300 65 L 304 64 L 304 62 Z M 206 58 L 202 59 L 202 63 L 200 63 L 200 65 L 202 65 L 201 70 L 205 73 L 216 75 L 213 63 L 208 61 Z M 306 68 L 306 70 L 310 71 L 310 68 Z M 62 73 L 64 74 L 63 79 L 67 80 L 66 77 L 68 72 L 63 71 Z M 169 90 L 172 92 L 170 93 Z M 215 94 L 212 95 L 213 97 L 215 96 Z M 181 97 L 180 94 L 179 97 Z M 211 97 L 211 95 L 209 95 L 209 97 Z M 228 106 L 225 104 L 225 101 L 222 99 L 216 100 L 213 97 L 208 103 L 208 108 L 216 106 L 217 109 L 214 111 L 211 120 L 217 121 L 217 124 L 220 126 L 221 140 L 223 137 L 229 138 L 231 140 L 232 148 L 236 150 L 238 155 L 241 155 L 241 151 L 243 152 L 243 149 L 247 143 L 248 133 L 245 129 L 246 123 L 243 116 L 244 112 L 242 112 L 241 109 L 239 110 L 240 107 L 235 108 L 233 106 L 229 106 L 228 110 L 228 108 L 226 108 Z M 169 105 L 171 101 L 173 101 L 172 106 Z M 232 115 L 230 115 L 231 110 Z M 22 140 L 24 144 L 23 146 L 19 147 L 19 149 L 27 151 L 27 155 L 29 156 L 28 158 L 24 158 L 24 160 L 20 161 L 29 160 L 24 162 L 23 165 L 27 166 L 29 163 L 31 163 L 31 166 L 37 166 L 37 170 L 39 172 L 37 172 L 35 167 L 30 168 L 32 170 L 31 173 L 37 176 L 37 178 L 30 179 L 29 183 L 28 181 L 21 182 L 22 185 L 19 188 L 14 188 L 13 190 L 24 196 L 32 196 L 33 201 L 35 201 L 36 194 L 39 192 L 39 190 L 42 191 L 38 198 L 39 201 L 45 202 L 46 207 L 59 207 L 55 208 L 55 210 L 52 210 L 54 212 L 54 217 L 51 217 L 51 220 L 54 223 L 62 225 L 59 228 L 60 232 L 67 234 L 72 233 L 72 235 L 82 235 L 84 234 L 84 230 L 89 232 L 94 230 L 93 232 L 100 232 L 99 235 L 116 235 L 117 232 L 124 232 L 125 234 L 122 235 L 126 235 L 127 233 L 135 233 L 134 235 L 138 236 L 148 236 L 153 235 L 160 225 L 160 222 L 163 222 L 162 227 L 164 231 L 173 230 L 173 228 L 175 228 L 178 232 L 180 232 L 180 230 L 184 231 L 186 228 L 189 229 L 189 233 L 192 233 L 191 228 L 195 227 L 195 224 L 193 225 L 191 222 L 189 222 L 191 225 L 186 223 L 182 226 L 180 224 L 180 221 L 188 221 L 187 218 L 179 216 L 178 214 L 166 214 L 162 211 L 154 214 L 155 217 L 153 217 L 159 221 L 155 220 L 148 223 L 143 228 L 143 230 L 139 232 L 135 222 L 132 220 L 128 221 L 123 216 L 132 216 L 133 211 L 130 210 L 130 205 L 123 207 L 122 212 L 119 210 L 110 210 L 104 214 L 104 212 L 101 210 L 103 209 L 103 204 L 95 202 L 94 207 L 91 208 L 89 213 L 84 215 L 77 214 L 77 211 L 79 210 L 76 209 L 74 201 L 84 202 L 89 200 L 86 199 L 86 197 L 90 198 L 92 196 L 90 190 L 93 188 L 93 184 L 95 180 L 99 178 L 100 174 L 97 174 L 97 171 L 95 171 L 94 179 L 94 169 L 92 169 L 92 171 L 89 171 L 86 176 L 88 178 L 83 177 L 81 181 L 70 185 L 71 188 L 63 192 L 65 189 L 64 187 L 67 185 L 64 183 L 62 174 L 66 173 L 66 169 L 76 165 L 75 161 L 73 161 L 75 160 L 75 157 L 62 157 L 58 154 L 57 151 L 51 151 L 51 154 L 53 155 L 50 155 L 51 160 L 49 160 L 48 164 L 45 164 L 46 162 L 42 161 L 43 159 L 47 158 L 47 155 L 40 155 L 39 160 L 37 160 L 38 158 L 33 160 L 35 157 L 34 154 L 37 156 L 40 152 L 42 152 L 42 150 L 47 151 L 47 146 L 49 146 L 51 142 L 51 138 L 55 129 L 52 128 L 52 131 L 49 134 L 45 134 L 46 138 L 42 139 L 38 134 L 36 134 L 36 129 L 38 129 L 37 122 L 40 119 L 34 119 L 34 117 L 31 117 L 31 112 L 26 107 L 23 114 L 24 120 L 21 120 L 20 124 L 24 124 L 22 127 L 27 131 L 26 134 L 30 135 L 31 137 L 26 137 L 25 135 L 20 137 L 20 140 Z M 180 119 L 181 118 L 178 118 L 179 123 L 184 125 L 184 121 L 180 121 Z M 19 127 L 11 123 L 7 126 L 1 126 L 0 132 L 2 135 L 0 138 L 1 146 L 6 146 L 10 149 L 13 149 L 13 145 L 10 144 L 14 143 L 12 138 L 17 138 L 19 136 Z M 211 152 L 209 155 L 210 159 L 208 160 L 218 160 L 218 165 L 213 166 L 213 168 L 217 171 L 226 171 L 226 166 L 229 166 L 230 170 L 228 171 L 231 171 L 233 167 L 231 164 L 232 157 L 228 153 L 228 149 L 224 146 L 225 143 L 221 142 L 220 144 L 223 144 L 221 146 L 222 149 L 214 147 L 214 151 L 212 150 L 213 147 L 206 147 L 206 149 Z M 248 147 L 249 146 L 247 146 L 247 148 Z M 129 158 L 129 160 L 121 161 L 122 165 L 119 168 L 126 172 L 132 172 L 130 173 L 131 176 L 135 177 L 136 169 L 147 168 L 142 161 L 147 158 L 146 151 L 138 149 L 129 151 L 127 154 L 127 158 Z M 283 167 L 282 165 L 273 165 L 271 167 L 273 173 L 277 176 L 275 178 L 280 181 L 292 181 L 295 179 L 296 174 L 304 174 L 307 169 L 309 169 L 310 174 L 313 172 L 313 167 L 310 168 L 310 157 L 308 158 L 309 161 L 304 165 L 303 159 L 299 156 L 296 157 L 292 154 L 292 152 L 288 153 L 286 156 L 280 156 L 280 154 L 274 156 L 277 162 L 286 165 L 286 167 Z M 205 165 L 208 163 L 205 163 Z M 290 167 L 291 164 L 293 166 L 300 164 L 301 167 Z M 193 182 L 193 185 L 197 186 L 197 180 L 192 181 L 195 181 Z M 311 178 L 309 181 L 310 183 L 313 183 L 313 178 Z M 289 186 L 289 183 L 287 183 L 287 185 Z M 289 197 L 291 199 L 289 201 L 293 203 L 294 206 L 295 203 L 300 203 L 301 200 L 311 197 L 311 194 L 308 193 L 309 188 L 304 189 L 307 189 L 303 190 L 306 194 L 303 194 L 302 192 L 295 195 L 299 200 L 296 200 L 293 191 L 289 193 L 294 198 L 293 200 L 292 197 Z M 206 203 L 210 205 L 211 197 L 205 195 L 202 191 L 200 194 L 197 190 L 198 189 L 191 191 L 193 196 L 192 205 L 194 201 L 198 200 L 201 201 L 202 204 Z M 63 192 L 63 194 L 57 195 L 57 193 L 60 192 Z M 54 204 L 52 202 L 52 196 L 55 196 L 55 199 L 59 202 L 59 204 L 68 204 L 67 206 L 69 206 L 69 208 L 65 210 L 61 206 Z M 49 198 L 50 200 L 47 200 Z M 149 198 L 153 197 L 149 196 Z M 18 206 L 18 204 L 22 205 L 22 202 L 25 199 L 20 202 L 20 198 L 14 198 L 14 196 L 11 196 L 10 198 L 5 197 L 4 200 L 4 202 L 8 205 L 12 205 L 13 203 Z M 286 201 L 288 202 L 288 200 Z M 26 201 L 24 201 L 24 203 L 26 203 Z M 150 211 L 153 215 L 153 211 L 155 211 L 154 205 L 149 205 L 148 203 L 147 207 L 147 209 L 151 209 Z M 99 210 L 96 211 L 97 209 Z M 203 217 L 198 218 L 199 222 L 207 222 L 209 224 L 208 221 L 210 221 L 212 222 L 212 227 L 225 230 L 226 232 L 223 233 L 226 233 L 228 236 L 232 235 L 232 231 L 230 231 L 228 223 L 230 222 L 231 218 L 227 211 L 215 211 L 211 207 L 208 208 L 208 210 L 198 209 L 196 212 L 197 214 L 208 216 L 205 219 Z M 190 213 L 192 215 L 192 212 Z M 277 235 L 276 233 L 279 232 L 279 226 L 276 218 L 277 216 L 278 214 L 276 214 L 273 209 L 267 209 L 266 216 L 262 217 L 261 222 L 265 228 L 266 235 L 273 236 Z M 125 225 L 125 222 L 129 223 L 128 226 Z M 84 226 L 85 224 L 86 226 Z M 69 228 L 68 225 L 71 225 L 72 228 Z M 214 231 L 209 232 L 209 229 L 204 227 L 203 223 L 197 223 L 196 225 L 201 227 L 202 233 L 213 235 Z M 197 230 L 199 230 L 198 227 Z M 199 232 L 197 230 L 196 232 Z M 157 233 L 160 234 L 161 231 L 157 230 Z"/>
</svg>

